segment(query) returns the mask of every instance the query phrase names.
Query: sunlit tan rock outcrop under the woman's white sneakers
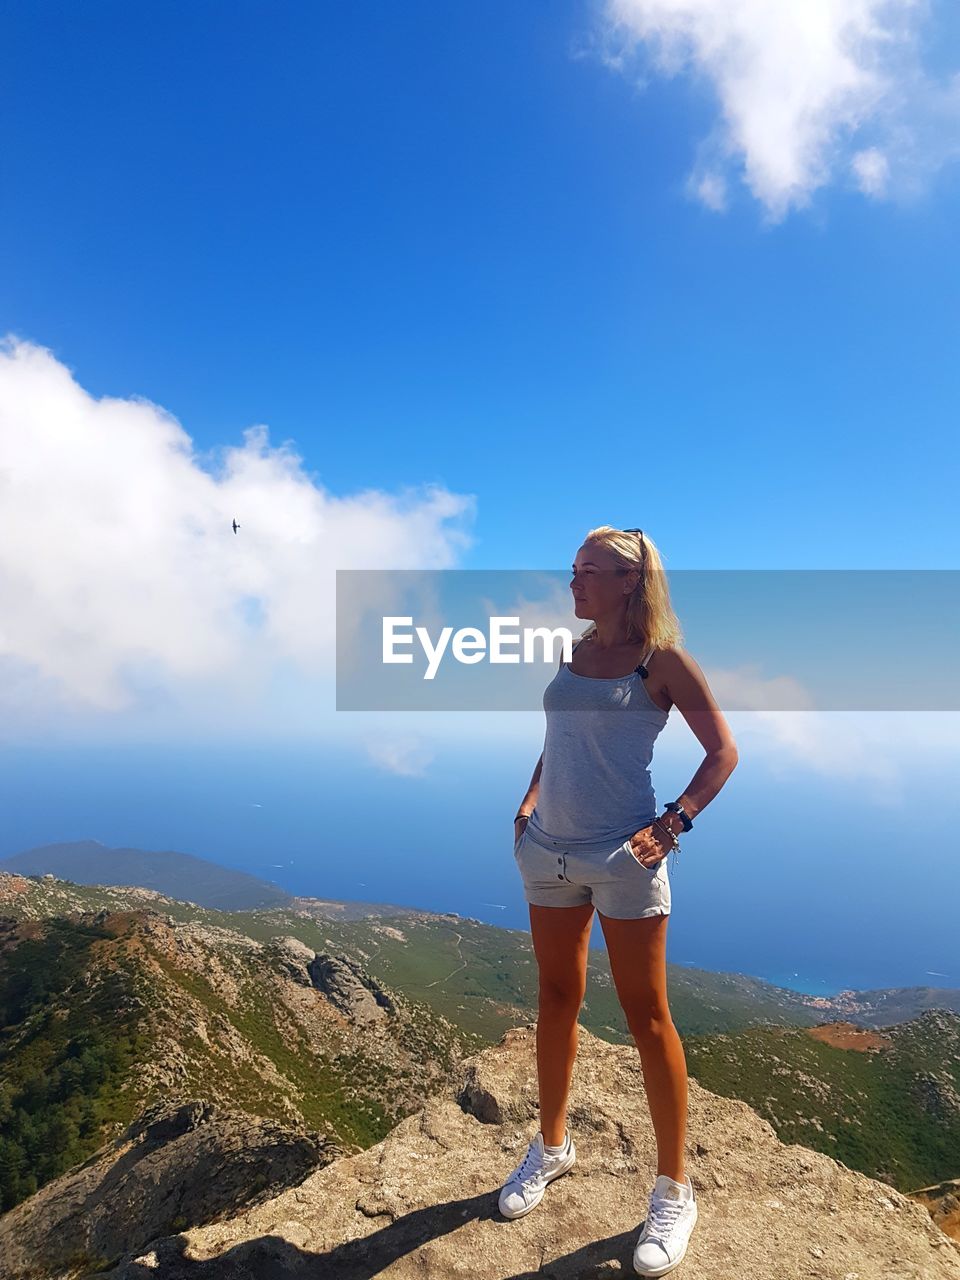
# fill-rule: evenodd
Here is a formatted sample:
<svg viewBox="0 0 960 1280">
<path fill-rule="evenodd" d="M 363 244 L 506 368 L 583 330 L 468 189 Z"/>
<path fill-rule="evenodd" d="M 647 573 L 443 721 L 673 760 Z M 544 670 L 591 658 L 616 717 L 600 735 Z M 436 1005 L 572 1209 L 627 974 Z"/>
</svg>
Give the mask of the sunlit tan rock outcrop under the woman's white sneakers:
<svg viewBox="0 0 960 1280">
<path fill-rule="evenodd" d="M 554 1280 L 634 1275 L 657 1172 L 639 1055 L 580 1029 L 568 1121 L 577 1164 L 527 1217 L 497 1210 L 539 1126 L 535 1027 L 466 1059 L 383 1140 L 228 1220 L 157 1239 L 110 1280 Z M 916 1201 L 786 1146 L 746 1103 L 689 1084 L 692 1280 L 960 1280 L 960 1248 Z M 31 1202 L 32 1203 L 32 1202 Z M 26 1206 L 29 1210 L 29 1206 Z"/>
</svg>

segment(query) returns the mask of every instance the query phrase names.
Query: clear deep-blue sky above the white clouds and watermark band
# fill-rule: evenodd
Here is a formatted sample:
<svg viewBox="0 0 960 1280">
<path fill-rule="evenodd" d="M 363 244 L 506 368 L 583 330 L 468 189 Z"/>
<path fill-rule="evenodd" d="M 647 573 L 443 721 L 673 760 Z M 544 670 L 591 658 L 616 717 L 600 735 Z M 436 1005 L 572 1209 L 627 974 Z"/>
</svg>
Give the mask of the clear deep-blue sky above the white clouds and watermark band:
<svg viewBox="0 0 960 1280">
<path fill-rule="evenodd" d="M 603 520 L 677 567 L 952 567 L 948 486 L 878 498 L 955 462 L 960 166 L 718 215 L 716 92 L 584 52 L 600 12 L 8 5 L 4 332 L 200 449 L 476 493 L 467 566 Z"/>
</svg>

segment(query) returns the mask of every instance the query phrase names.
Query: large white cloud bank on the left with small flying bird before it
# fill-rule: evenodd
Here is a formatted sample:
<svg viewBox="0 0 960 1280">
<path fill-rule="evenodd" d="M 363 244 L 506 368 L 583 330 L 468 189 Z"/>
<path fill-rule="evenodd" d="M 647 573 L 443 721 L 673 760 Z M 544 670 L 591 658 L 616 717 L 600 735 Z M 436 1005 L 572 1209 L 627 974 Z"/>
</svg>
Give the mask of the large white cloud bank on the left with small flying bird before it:
<svg viewBox="0 0 960 1280">
<path fill-rule="evenodd" d="M 333 494 L 260 425 L 200 456 L 159 404 L 97 399 L 8 335 L 0 736 L 49 741 L 104 713 L 223 731 L 274 694 L 316 718 L 305 687 L 334 675 L 335 570 L 453 567 L 474 508 L 433 485 Z"/>
</svg>

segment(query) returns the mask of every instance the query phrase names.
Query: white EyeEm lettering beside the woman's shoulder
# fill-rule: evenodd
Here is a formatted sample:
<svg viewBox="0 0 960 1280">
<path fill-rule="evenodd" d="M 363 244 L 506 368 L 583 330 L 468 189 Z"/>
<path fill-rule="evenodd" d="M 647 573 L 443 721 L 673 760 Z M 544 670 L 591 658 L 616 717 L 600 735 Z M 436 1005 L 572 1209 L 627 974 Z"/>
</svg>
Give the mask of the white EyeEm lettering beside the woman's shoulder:
<svg viewBox="0 0 960 1280">
<path fill-rule="evenodd" d="M 461 662 L 467 667 L 475 667 L 484 660 L 548 664 L 559 660 L 554 655 L 554 641 L 559 639 L 563 660 L 570 662 L 573 653 L 573 632 L 568 627 L 524 627 L 522 632 L 513 635 L 506 632 L 507 626 L 518 628 L 520 614 L 492 617 L 486 635 L 480 627 L 460 627 L 457 631 L 453 627 L 443 627 L 436 644 L 434 644 L 426 627 L 413 627 L 412 616 L 385 617 L 383 620 L 383 660 L 384 663 L 412 663 L 413 654 L 398 653 L 397 646 L 412 646 L 416 636 L 426 657 L 424 680 L 433 680 L 436 676 L 448 650 L 454 662 Z M 412 631 L 401 631 L 399 627 L 412 627 Z M 520 645 L 521 639 L 524 643 L 522 655 L 520 652 L 506 652 L 506 645 Z"/>
</svg>

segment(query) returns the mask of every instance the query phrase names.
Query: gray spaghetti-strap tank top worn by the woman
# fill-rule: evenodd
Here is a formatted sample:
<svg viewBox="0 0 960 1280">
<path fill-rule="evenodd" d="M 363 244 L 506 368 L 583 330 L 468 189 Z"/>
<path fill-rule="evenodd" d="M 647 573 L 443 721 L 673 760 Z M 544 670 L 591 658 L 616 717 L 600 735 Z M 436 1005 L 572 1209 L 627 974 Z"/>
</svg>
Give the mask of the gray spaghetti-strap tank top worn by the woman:
<svg viewBox="0 0 960 1280">
<path fill-rule="evenodd" d="M 609 678 L 579 676 L 564 662 L 544 689 L 540 790 L 526 824 L 538 845 L 602 852 L 657 817 L 649 764 L 669 713 L 644 687 L 654 652 Z"/>
</svg>

